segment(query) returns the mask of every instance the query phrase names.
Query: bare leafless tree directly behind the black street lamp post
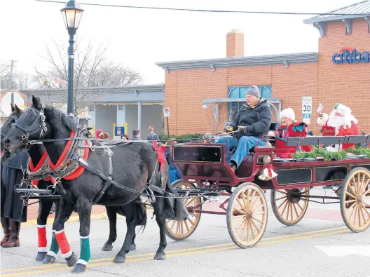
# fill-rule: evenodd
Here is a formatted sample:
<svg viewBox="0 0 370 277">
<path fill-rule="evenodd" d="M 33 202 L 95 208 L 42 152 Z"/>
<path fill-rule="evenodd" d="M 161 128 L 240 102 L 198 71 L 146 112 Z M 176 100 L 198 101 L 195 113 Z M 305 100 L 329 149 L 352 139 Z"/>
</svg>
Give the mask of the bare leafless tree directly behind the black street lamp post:
<svg viewBox="0 0 370 277">
<path fill-rule="evenodd" d="M 87 43 L 82 46 L 81 41 L 76 43 L 74 56 L 74 114 L 84 107 L 84 102 L 96 100 L 101 95 L 110 93 L 113 86 L 130 86 L 142 81 L 138 72 L 106 58 L 107 46 L 98 47 Z M 42 57 L 48 64 L 43 72 L 37 68 L 36 81 L 40 88 L 48 88 L 58 99 L 58 102 L 67 103 L 68 55 L 67 47 L 53 41 L 51 46 L 45 46 Z M 105 87 L 99 93 L 92 92 L 94 87 Z"/>
</svg>

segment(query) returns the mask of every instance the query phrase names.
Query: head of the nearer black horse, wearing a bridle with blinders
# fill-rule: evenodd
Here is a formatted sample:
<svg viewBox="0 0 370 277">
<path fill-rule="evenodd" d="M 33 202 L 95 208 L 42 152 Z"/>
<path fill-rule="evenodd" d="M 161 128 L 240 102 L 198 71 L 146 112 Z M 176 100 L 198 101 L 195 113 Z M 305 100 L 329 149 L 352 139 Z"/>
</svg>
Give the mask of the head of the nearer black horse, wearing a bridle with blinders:
<svg viewBox="0 0 370 277">
<path fill-rule="evenodd" d="M 46 126 L 40 98 L 32 96 L 32 105 L 20 114 L 17 122 L 12 123 L 12 127 L 5 135 L 4 147 L 14 154 L 26 147 L 29 140 L 42 139 L 47 133 L 48 126 Z"/>
</svg>

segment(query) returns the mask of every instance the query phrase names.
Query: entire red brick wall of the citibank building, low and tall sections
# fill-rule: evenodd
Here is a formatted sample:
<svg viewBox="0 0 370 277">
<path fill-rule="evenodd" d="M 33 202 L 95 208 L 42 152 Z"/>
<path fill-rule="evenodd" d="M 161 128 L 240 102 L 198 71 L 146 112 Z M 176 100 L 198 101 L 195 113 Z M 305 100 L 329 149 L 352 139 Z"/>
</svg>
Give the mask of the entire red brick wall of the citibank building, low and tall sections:
<svg viewBox="0 0 370 277">
<path fill-rule="evenodd" d="M 364 20 L 354 20 L 352 34 L 345 34 L 341 22 L 327 25 L 326 35 L 319 39 L 319 62 L 253 67 L 170 70 L 165 76 L 165 107 L 170 107 L 170 133 L 207 133 L 214 128 L 210 123 L 210 109 L 202 108 L 203 98 L 226 98 L 228 86 L 272 85 L 273 97 L 280 98 L 282 109 L 291 107 L 296 119 L 302 120 L 302 97 L 313 97 L 313 118 L 309 129 L 318 134 L 316 108 L 324 104 L 324 112 L 336 102 L 352 109 L 359 120 L 359 128 L 370 133 L 370 63 L 335 65 L 331 56 L 343 47 L 370 51 L 370 34 Z M 224 126 L 227 105 L 221 107 L 221 122 Z"/>
</svg>

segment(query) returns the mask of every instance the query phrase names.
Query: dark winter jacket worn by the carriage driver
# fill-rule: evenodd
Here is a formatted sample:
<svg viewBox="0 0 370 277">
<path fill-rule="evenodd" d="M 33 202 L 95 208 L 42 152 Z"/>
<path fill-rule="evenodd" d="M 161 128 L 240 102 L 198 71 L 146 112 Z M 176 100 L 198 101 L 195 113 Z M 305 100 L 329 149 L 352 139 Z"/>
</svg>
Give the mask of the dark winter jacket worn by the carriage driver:
<svg viewBox="0 0 370 277">
<path fill-rule="evenodd" d="M 254 108 L 249 108 L 243 104 L 242 108 L 233 118 L 230 126 L 233 130 L 238 130 L 238 126 L 245 126 L 245 133 L 242 135 L 262 137 L 268 134 L 273 113 L 267 100 L 261 100 Z"/>
</svg>

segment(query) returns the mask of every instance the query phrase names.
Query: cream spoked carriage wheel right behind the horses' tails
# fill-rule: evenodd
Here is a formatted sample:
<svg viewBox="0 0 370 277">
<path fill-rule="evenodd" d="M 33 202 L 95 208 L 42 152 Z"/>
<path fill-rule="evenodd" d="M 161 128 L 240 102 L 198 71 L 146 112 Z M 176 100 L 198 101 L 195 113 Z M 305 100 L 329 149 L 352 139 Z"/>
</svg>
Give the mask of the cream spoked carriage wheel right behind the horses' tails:
<svg viewBox="0 0 370 277">
<path fill-rule="evenodd" d="M 196 189 L 196 186 L 190 183 L 185 183 L 182 180 L 174 182 L 172 184 L 174 189 Z M 189 238 L 196 228 L 198 227 L 200 220 L 200 212 L 194 212 L 194 210 L 202 210 L 200 197 L 185 199 L 185 206 L 189 211 L 189 217 L 186 220 L 166 220 L 166 234 L 175 241 L 182 241 L 185 238 Z"/>
</svg>

